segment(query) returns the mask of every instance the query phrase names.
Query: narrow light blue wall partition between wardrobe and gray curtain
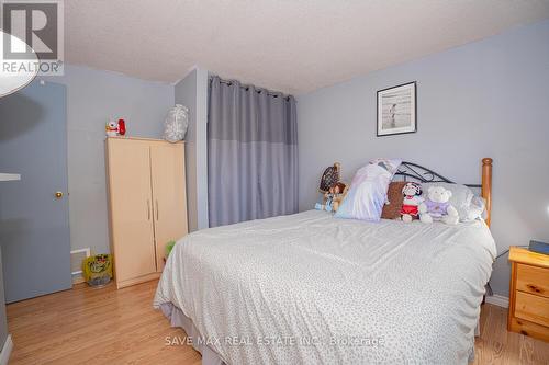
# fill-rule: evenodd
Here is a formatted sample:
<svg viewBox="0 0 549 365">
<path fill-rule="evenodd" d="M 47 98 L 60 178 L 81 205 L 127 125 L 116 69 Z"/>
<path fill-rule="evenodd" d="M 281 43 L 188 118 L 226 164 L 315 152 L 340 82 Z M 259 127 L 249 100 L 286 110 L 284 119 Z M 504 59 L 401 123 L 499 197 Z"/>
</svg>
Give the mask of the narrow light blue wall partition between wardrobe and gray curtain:
<svg viewBox="0 0 549 365">
<path fill-rule="evenodd" d="M 189 230 L 208 228 L 208 71 L 195 68 L 175 85 L 175 101 L 189 107 L 186 136 Z"/>
</svg>

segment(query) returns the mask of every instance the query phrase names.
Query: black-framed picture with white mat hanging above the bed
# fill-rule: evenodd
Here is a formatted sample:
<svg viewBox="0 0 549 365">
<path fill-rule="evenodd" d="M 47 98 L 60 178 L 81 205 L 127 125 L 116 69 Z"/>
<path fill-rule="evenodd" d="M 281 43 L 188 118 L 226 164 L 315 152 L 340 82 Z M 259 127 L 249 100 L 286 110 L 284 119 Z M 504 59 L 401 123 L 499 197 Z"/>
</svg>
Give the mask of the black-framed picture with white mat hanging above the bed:
<svg viewBox="0 0 549 365">
<path fill-rule="evenodd" d="M 378 91 L 378 137 L 417 132 L 416 82 Z"/>
</svg>

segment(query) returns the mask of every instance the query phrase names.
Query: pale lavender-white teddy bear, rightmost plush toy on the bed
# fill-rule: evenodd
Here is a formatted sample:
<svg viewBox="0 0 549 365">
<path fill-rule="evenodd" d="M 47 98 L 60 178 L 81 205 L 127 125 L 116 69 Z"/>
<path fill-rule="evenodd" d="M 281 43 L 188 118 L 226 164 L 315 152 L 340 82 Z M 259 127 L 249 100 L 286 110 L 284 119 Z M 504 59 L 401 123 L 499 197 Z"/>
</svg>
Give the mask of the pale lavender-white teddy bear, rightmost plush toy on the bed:
<svg viewBox="0 0 549 365">
<path fill-rule="evenodd" d="M 442 186 L 430 186 L 427 198 L 419 204 L 419 220 L 433 223 L 440 220 L 447 225 L 457 225 L 459 221 L 458 210 L 450 204 L 451 192 Z"/>
</svg>

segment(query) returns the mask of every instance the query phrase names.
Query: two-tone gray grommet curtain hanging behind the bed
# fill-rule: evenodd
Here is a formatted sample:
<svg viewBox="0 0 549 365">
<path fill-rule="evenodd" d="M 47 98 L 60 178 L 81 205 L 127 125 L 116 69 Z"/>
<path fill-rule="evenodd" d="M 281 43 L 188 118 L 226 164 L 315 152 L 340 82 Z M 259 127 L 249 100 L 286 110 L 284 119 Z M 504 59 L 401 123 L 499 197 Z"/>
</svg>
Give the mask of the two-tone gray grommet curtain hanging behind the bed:
<svg viewBox="0 0 549 365">
<path fill-rule="evenodd" d="M 295 100 L 237 81 L 210 81 L 210 227 L 298 212 Z"/>
</svg>

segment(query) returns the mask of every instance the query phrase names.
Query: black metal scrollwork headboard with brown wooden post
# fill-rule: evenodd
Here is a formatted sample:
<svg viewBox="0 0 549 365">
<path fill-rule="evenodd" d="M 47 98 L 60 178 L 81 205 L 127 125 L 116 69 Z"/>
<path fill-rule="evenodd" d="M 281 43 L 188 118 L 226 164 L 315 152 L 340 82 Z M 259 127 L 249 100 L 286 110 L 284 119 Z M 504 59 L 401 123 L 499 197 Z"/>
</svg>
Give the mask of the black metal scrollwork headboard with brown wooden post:
<svg viewBox="0 0 549 365">
<path fill-rule="evenodd" d="M 484 198 L 486 203 L 486 225 L 490 227 L 490 220 L 492 216 L 492 162 L 491 158 L 482 159 L 482 174 L 481 174 L 481 184 L 464 184 L 469 187 L 480 187 L 481 196 Z M 422 183 L 428 182 L 446 182 L 453 184 L 455 182 L 442 176 L 439 173 L 436 173 L 433 170 L 424 168 L 419 164 L 413 162 L 403 161 L 399 167 L 396 176 L 402 176 L 404 181 L 411 179 L 413 181 L 418 181 Z"/>
</svg>

